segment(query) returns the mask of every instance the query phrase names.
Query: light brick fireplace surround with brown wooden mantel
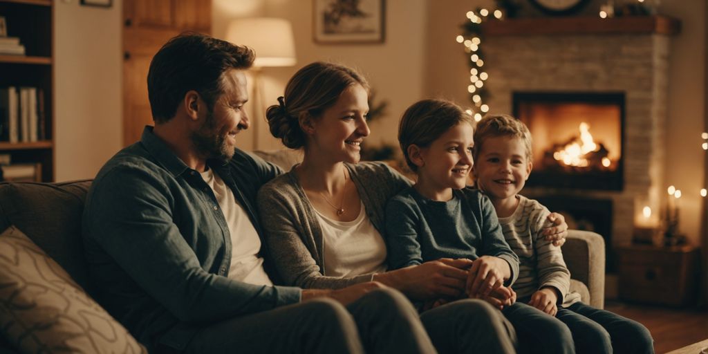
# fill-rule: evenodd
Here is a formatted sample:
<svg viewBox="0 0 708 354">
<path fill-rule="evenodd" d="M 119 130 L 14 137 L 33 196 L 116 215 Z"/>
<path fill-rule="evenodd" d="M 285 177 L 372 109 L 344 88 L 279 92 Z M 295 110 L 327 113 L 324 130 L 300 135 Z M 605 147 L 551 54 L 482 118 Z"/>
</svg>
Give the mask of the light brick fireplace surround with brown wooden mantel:
<svg viewBox="0 0 708 354">
<path fill-rule="evenodd" d="M 511 113 L 514 92 L 624 92 L 624 188 L 527 188 L 532 198 L 612 201 L 612 247 L 632 239 L 635 217 L 663 198 L 670 36 L 679 23 L 661 16 L 488 21 L 481 49 L 491 113 Z M 608 246 L 610 246 L 608 244 Z"/>
</svg>

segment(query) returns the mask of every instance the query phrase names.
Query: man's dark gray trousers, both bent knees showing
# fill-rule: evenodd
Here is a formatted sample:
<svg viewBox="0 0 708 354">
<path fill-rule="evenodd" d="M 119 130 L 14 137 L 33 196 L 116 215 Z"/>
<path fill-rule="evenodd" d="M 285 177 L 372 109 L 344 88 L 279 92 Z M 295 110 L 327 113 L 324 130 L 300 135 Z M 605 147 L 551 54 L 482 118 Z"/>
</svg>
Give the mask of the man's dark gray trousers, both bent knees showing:
<svg viewBox="0 0 708 354">
<path fill-rule="evenodd" d="M 343 307 L 332 299 L 280 307 L 208 326 L 185 353 L 435 353 L 418 313 L 392 289 Z"/>
</svg>

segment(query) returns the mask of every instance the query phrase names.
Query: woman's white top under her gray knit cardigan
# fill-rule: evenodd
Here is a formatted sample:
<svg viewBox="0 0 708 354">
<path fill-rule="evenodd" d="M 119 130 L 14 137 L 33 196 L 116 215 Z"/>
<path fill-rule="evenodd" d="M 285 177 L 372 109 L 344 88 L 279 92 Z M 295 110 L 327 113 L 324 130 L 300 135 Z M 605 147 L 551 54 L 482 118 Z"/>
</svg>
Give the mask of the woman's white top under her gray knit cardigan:
<svg viewBox="0 0 708 354">
<path fill-rule="evenodd" d="M 353 277 L 386 271 L 386 244 L 361 203 L 359 216 L 341 222 L 315 209 L 324 235 L 324 275 Z"/>
</svg>

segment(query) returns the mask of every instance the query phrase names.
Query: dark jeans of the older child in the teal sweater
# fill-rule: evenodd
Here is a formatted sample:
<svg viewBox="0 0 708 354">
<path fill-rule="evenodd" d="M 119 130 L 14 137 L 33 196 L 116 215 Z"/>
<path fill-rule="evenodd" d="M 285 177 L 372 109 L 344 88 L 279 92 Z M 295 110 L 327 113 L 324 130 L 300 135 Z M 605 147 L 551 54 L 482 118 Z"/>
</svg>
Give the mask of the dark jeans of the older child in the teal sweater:
<svg viewBox="0 0 708 354">
<path fill-rule="evenodd" d="M 516 330 L 519 353 L 575 353 L 571 331 L 554 316 L 521 301 L 502 313 Z"/>
</svg>

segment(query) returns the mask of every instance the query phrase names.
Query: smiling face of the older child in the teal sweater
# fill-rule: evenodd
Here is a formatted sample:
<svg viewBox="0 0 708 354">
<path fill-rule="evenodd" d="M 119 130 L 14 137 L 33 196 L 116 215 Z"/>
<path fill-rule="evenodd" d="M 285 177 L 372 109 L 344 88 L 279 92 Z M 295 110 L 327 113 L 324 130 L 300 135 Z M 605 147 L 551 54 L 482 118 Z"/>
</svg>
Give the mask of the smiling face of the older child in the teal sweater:
<svg viewBox="0 0 708 354">
<path fill-rule="evenodd" d="M 418 181 L 426 189 L 462 189 L 472 169 L 472 125 L 461 122 L 435 139 L 429 147 L 421 148 L 422 166 L 418 167 Z"/>
</svg>

